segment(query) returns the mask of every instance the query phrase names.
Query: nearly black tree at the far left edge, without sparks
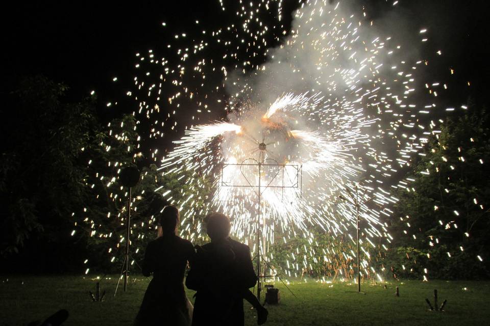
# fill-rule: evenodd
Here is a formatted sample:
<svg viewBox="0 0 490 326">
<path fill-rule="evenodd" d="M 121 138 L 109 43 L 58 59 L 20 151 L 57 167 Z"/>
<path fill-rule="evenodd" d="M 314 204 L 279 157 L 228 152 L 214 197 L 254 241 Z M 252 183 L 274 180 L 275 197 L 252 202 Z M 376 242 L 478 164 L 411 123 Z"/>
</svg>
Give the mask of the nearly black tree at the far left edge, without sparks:
<svg viewBox="0 0 490 326">
<path fill-rule="evenodd" d="M 0 160 L 3 257 L 32 242 L 56 244 L 82 205 L 81 148 L 96 130 L 91 99 L 68 102 L 67 87 L 42 76 L 24 79 L 2 107 Z M 34 246 L 35 248 L 35 246 Z M 41 255 L 43 256 L 43 255 Z"/>
</svg>

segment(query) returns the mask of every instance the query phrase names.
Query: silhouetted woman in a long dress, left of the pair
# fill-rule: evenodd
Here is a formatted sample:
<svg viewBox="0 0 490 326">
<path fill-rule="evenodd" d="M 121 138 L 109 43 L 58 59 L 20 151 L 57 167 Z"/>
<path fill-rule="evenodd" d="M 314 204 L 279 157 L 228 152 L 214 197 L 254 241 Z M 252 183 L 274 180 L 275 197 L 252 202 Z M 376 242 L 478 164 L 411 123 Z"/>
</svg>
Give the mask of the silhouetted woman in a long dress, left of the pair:
<svg viewBox="0 0 490 326">
<path fill-rule="evenodd" d="M 159 224 L 159 237 L 148 244 L 144 253 L 143 275 L 153 273 L 153 279 L 144 293 L 134 324 L 188 326 L 191 320 L 183 282 L 194 247 L 176 235 L 177 207 L 165 206 Z"/>
</svg>

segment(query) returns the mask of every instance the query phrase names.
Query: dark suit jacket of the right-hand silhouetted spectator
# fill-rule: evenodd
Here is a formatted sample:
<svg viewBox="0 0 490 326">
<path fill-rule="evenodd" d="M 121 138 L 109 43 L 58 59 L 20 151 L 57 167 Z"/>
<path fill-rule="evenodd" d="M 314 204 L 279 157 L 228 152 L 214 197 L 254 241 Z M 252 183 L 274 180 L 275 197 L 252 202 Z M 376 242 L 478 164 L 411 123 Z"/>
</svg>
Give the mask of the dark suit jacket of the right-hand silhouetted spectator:
<svg viewBox="0 0 490 326">
<path fill-rule="evenodd" d="M 244 324 L 243 293 L 255 286 L 257 276 L 249 246 L 231 238 L 226 241 L 233 263 L 223 263 L 230 256 L 223 253 L 223 246 L 207 243 L 201 254 L 198 251 L 187 275 L 185 285 L 197 291 L 193 326 Z"/>
</svg>

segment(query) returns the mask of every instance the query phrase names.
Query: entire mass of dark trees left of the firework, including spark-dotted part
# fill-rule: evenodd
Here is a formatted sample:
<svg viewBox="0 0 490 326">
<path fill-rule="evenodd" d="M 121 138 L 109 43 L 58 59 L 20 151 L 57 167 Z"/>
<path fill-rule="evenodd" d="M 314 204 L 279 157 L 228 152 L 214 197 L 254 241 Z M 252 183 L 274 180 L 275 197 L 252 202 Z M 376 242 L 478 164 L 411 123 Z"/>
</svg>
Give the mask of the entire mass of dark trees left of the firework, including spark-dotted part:
<svg viewBox="0 0 490 326">
<path fill-rule="evenodd" d="M 67 90 L 30 77 L 2 108 L 0 253 L 4 267 L 23 271 L 81 271 L 85 262 L 84 268 L 114 272 L 126 238 L 128 188 L 120 182 L 121 170 L 141 171 L 131 202 L 136 262 L 156 235 L 155 215 L 165 204 L 179 205 L 189 186 L 186 178 L 148 166 L 133 115 L 102 126 L 96 99 L 69 102 Z M 157 188 L 170 191 L 168 201 Z M 204 206 L 206 196 L 196 196 L 192 205 Z"/>
</svg>

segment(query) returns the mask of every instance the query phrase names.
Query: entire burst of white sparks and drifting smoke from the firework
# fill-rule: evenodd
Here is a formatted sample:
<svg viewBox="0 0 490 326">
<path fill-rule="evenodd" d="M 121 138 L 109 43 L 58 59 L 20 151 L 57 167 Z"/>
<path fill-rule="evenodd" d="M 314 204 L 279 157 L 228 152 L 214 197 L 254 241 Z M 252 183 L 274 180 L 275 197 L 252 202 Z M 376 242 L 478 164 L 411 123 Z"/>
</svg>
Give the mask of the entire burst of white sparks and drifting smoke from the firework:
<svg viewBox="0 0 490 326">
<path fill-rule="evenodd" d="M 227 6 L 219 0 L 216 10 L 228 13 L 231 22 L 202 30 L 196 20 L 174 35 L 165 53 L 136 54 L 134 89 L 127 96 L 137 107 L 138 131 L 151 146 L 141 141 L 131 150 L 151 157 L 162 175 L 184 178 L 182 200 L 155 187 L 181 209 L 181 236 L 203 239 L 202 218 L 217 210 L 231 216 L 232 235 L 255 252 L 261 209 L 267 259 L 274 259 L 269 252 L 276 243 L 304 237 L 310 246 L 291 251 L 281 264 L 288 276 L 322 260 L 332 274 L 352 278 L 355 208 L 338 197 L 362 187 L 372 200 L 359 211 L 361 274 L 381 280 L 371 256 L 397 236 L 386 224 L 398 200 L 392 193 L 410 189 L 411 181 L 399 172 L 438 134 L 432 117 L 455 110 L 438 101 L 449 83 L 425 80 L 426 58 L 408 55 L 413 51 L 403 40 L 342 4 L 299 2 L 290 30 L 282 24 L 282 0 Z M 429 32 L 421 29 L 412 46 L 424 46 Z M 117 110 L 116 104 L 107 106 Z M 167 152 L 159 147 L 165 137 L 175 137 Z M 258 162 L 265 165 L 260 172 Z M 212 192 L 202 198 L 205 207 L 196 208 L 203 179 Z M 154 226 L 135 226 L 134 236 L 144 233 L 138 227 Z M 333 239 L 332 246 L 317 252 L 311 228 Z"/>
</svg>

